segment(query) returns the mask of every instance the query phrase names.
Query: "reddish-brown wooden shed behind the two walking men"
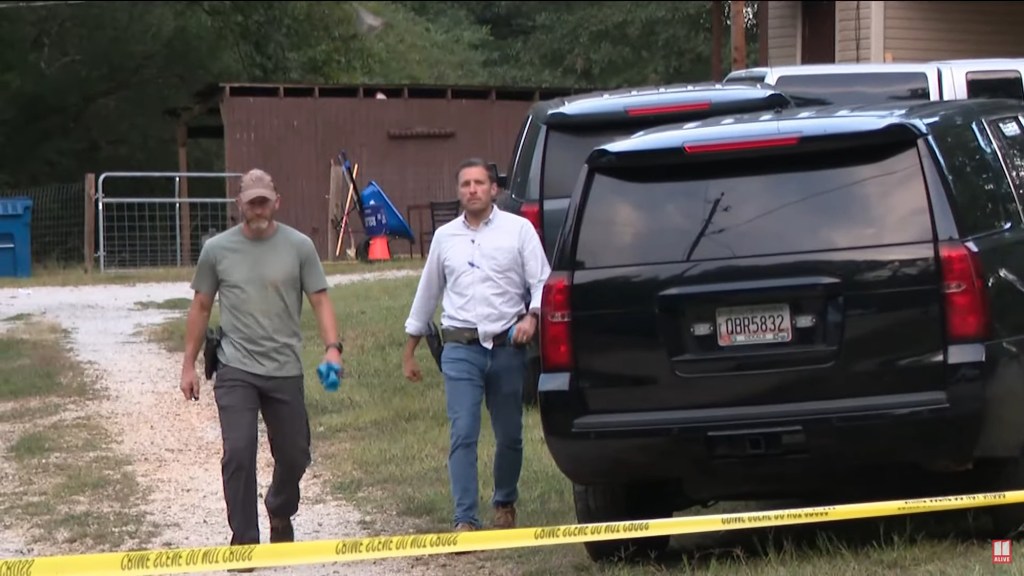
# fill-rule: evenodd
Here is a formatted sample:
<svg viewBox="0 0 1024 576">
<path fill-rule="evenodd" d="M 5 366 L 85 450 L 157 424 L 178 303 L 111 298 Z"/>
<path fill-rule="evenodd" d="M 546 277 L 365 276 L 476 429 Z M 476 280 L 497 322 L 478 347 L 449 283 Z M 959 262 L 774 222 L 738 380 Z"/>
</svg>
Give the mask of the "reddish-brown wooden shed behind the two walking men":
<svg viewBox="0 0 1024 576">
<path fill-rule="evenodd" d="M 418 237 L 423 224 L 411 209 L 455 199 L 460 161 L 475 156 L 508 165 L 529 106 L 581 91 L 587 90 L 217 84 L 174 113 L 179 170 L 188 169 L 189 140 L 222 139 L 224 171 L 268 171 L 282 194 L 280 219 L 309 235 L 321 257 L 332 259 L 331 162 L 342 151 L 359 166 L 357 182 L 376 181 Z M 354 220 L 358 240 L 361 225 Z M 429 217 L 424 221 L 429 225 Z M 391 251 L 413 252 L 406 241 L 392 242 Z"/>
</svg>

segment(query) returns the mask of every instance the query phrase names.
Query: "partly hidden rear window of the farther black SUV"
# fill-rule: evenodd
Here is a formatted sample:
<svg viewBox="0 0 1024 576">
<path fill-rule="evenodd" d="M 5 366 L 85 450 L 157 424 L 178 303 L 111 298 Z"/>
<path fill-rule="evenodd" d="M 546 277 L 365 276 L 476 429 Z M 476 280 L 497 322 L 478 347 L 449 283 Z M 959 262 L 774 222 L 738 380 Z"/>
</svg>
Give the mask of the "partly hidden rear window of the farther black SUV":
<svg viewBox="0 0 1024 576">
<path fill-rule="evenodd" d="M 609 140 L 632 135 L 645 126 L 627 126 L 611 130 L 565 132 L 549 130 L 544 159 L 544 197 L 568 198 L 572 195 L 580 170 L 595 148 Z"/>
</svg>

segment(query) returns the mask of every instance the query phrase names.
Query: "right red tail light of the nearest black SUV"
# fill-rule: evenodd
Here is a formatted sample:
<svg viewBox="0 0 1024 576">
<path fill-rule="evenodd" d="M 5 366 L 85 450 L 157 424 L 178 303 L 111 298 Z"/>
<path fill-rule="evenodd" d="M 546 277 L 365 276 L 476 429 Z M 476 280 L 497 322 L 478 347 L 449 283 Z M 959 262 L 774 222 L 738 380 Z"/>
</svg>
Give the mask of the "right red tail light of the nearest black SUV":
<svg viewBox="0 0 1024 576">
<path fill-rule="evenodd" d="M 978 255 L 959 242 L 939 245 L 946 337 L 951 342 L 977 341 L 989 333 L 988 293 Z"/>
</svg>

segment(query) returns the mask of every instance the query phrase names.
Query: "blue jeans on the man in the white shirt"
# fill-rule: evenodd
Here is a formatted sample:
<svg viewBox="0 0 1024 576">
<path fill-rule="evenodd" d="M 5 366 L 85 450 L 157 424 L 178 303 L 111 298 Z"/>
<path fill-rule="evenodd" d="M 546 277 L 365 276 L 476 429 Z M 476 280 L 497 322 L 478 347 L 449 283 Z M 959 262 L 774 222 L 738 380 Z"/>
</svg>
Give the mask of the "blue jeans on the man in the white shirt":
<svg viewBox="0 0 1024 576">
<path fill-rule="evenodd" d="M 480 344 L 449 342 L 441 354 L 450 426 L 449 479 L 455 499 L 454 524 L 477 528 L 479 483 L 477 441 L 480 404 L 486 402 L 495 430 L 493 505 L 513 504 L 519 497 L 522 469 L 522 379 L 525 351 L 511 346 L 487 349 Z"/>
</svg>

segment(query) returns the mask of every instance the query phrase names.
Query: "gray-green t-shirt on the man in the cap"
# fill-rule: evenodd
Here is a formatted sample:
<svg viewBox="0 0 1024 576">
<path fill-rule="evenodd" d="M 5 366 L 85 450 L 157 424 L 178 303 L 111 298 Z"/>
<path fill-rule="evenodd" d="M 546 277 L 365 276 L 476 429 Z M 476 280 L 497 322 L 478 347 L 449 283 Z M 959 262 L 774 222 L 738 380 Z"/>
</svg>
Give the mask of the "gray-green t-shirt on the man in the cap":
<svg viewBox="0 0 1024 576">
<path fill-rule="evenodd" d="M 191 287 L 219 292 L 223 364 L 264 376 L 302 374 L 303 294 L 328 288 L 308 236 L 278 222 L 269 238 L 250 240 L 236 225 L 203 245 Z"/>
</svg>

